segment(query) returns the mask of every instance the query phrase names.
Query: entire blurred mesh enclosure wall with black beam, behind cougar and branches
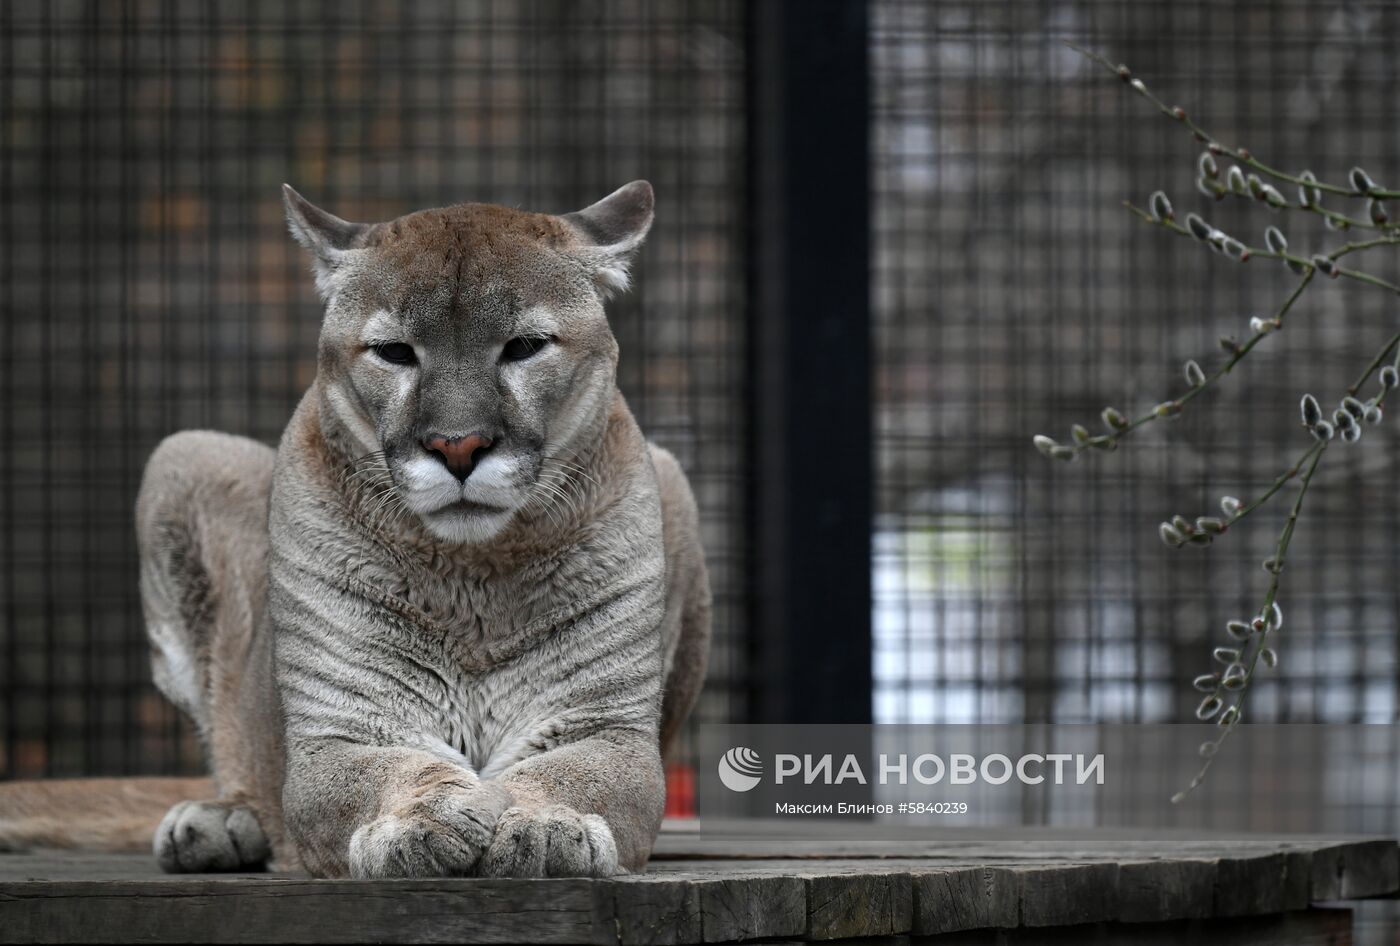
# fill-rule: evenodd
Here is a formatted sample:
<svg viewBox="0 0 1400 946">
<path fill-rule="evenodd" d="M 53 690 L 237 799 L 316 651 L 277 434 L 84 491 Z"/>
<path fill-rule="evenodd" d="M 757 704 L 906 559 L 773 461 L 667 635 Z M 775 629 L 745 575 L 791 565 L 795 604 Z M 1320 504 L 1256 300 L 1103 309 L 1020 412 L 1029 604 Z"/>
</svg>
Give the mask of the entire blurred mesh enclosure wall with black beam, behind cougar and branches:
<svg viewBox="0 0 1400 946">
<path fill-rule="evenodd" d="M 1340 397 L 1396 302 L 1319 280 L 1183 417 L 1042 458 L 1183 392 L 1294 285 L 1124 199 L 1344 241 L 1197 195 L 1190 136 L 1064 41 L 1274 167 L 1400 183 L 1380 1 L 0 4 L 0 775 L 199 768 L 150 683 L 132 504 L 164 435 L 274 442 L 312 378 L 283 181 L 357 220 L 655 185 L 612 318 L 700 502 L 697 721 L 1190 719 L 1291 494 L 1208 550 L 1156 523 L 1292 463 L 1299 393 Z M 1326 456 L 1256 721 L 1394 719 L 1392 427 Z"/>
</svg>

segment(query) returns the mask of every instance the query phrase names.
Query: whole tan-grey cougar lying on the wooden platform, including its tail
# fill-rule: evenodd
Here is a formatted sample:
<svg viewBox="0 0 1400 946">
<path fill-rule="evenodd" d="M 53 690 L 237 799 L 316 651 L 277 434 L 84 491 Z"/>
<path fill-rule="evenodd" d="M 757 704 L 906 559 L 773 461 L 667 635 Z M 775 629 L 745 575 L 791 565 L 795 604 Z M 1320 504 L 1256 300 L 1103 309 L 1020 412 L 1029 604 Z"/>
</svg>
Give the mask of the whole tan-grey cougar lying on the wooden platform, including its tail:
<svg viewBox="0 0 1400 946">
<path fill-rule="evenodd" d="M 136 507 L 155 683 L 213 778 L 0 786 L 0 845 L 643 869 L 710 638 L 696 504 L 617 390 L 603 311 L 651 185 L 564 216 L 284 203 L 325 302 L 315 381 L 276 451 L 167 438 Z"/>
</svg>

